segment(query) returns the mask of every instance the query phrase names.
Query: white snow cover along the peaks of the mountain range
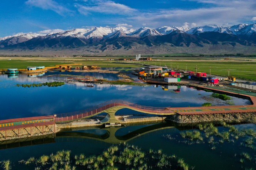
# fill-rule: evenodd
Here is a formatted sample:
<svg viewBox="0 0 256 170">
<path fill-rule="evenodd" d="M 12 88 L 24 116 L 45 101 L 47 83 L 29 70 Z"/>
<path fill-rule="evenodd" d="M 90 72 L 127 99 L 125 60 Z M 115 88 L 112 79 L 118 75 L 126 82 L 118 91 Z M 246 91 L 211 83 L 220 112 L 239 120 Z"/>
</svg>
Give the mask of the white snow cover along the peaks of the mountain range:
<svg viewBox="0 0 256 170">
<path fill-rule="evenodd" d="M 175 27 L 175 26 L 163 26 L 159 28 L 148 28 L 142 27 L 137 30 L 127 27 L 94 27 L 94 28 L 78 28 L 73 30 L 66 30 L 64 32 L 51 32 L 47 35 L 39 33 L 18 33 L 13 36 L 5 36 L 0 38 L 0 41 L 9 41 L 9 39 L 16 39 L 16 42 L 30 40 L 32 38 L 42 36 L 42 38 L 56 38 L 73 36 L 78 38 L 110 38 L 110 37 L 120 37 L 120 36 L 134 36 L 134 37 L 144 37 L 144 36 L 155 36 L 155 35 L 167 35 L 172 32 L 175 33 L 188 33 L 188 34 L 200 34 L 203 32 L 219 32 L 235 35 L 246 35 L 256 33 L 256 24 L 238 24 L 229 27 L 217 26 L 215 24 L 209 24 L 200 27 L 188 28 L 188 27 Z M 14 40 L 12 40 L 14 41 Z"/>
</svg>

